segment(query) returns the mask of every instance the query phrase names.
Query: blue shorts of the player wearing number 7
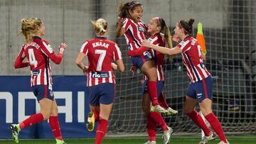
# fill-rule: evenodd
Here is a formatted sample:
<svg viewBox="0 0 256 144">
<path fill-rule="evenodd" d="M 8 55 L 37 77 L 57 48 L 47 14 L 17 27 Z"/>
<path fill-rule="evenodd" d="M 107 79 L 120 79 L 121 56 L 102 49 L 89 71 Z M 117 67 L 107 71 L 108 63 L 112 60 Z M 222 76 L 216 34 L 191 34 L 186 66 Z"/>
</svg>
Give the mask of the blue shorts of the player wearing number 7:
<svg viewBox="0 0 256 144">
<path fill-rule="evenodd" d="M 115 97 L 115 84 L 104 83 L 88 87 L 90 92 L 90 104 L 97 106 L 100 104 L 112 104 Z"/>
</svg>

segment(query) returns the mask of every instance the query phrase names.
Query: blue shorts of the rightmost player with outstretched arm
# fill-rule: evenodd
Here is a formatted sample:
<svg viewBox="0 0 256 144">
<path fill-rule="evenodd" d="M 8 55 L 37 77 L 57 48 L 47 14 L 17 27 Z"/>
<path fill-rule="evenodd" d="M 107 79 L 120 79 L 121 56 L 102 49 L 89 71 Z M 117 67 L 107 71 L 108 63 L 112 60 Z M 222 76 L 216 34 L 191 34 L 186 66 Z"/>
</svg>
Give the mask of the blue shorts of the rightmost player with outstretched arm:
<svg viewBox="0 0 256 144">
<path fill-rule="evenodd" d="M 213 79 L 211 76 L 206 77 L 198 82 L 191 82 L 188 86 L 187 96 L 201 102 L 203 99 L 213 99 Z"/>
</svg>

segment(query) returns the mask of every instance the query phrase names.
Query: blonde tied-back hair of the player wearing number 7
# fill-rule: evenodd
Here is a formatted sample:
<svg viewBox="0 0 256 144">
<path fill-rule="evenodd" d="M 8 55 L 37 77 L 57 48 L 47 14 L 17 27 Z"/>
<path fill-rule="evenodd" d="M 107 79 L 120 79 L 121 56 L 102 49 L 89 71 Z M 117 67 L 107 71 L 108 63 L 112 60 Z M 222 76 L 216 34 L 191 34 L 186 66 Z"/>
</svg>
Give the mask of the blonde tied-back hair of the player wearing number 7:
<svg viewBox="0 0 256 144">
<path fill-rule="evenodd" d="M 93 29 L 96 34 L 104 35 L 107 33 L 107 21 L 103 18 L 99 18 L 96 21 L 91 21 Z"/>
</svg>

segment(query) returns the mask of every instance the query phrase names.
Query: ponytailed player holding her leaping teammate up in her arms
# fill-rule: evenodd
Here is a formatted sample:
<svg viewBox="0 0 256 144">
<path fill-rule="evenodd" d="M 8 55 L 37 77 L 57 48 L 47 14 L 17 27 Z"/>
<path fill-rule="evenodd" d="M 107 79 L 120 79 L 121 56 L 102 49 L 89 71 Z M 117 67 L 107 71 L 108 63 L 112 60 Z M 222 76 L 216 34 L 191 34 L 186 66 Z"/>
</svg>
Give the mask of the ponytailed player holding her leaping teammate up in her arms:
<svg viewBox="0 0 256 144">
<path fill-rule="evenodd" d="M 164 32 L 164 39 L 161 36 L 161 32 Z M 155 17 L 151 18 L 148 24 L 148 30 L 147 33 L 149 33 L 150 38 L 149 41 L 153 43 L 154 45 L 160 45 L 165 46 L 165 40 L 167 42 L 167 45 L 169 48 L 172 48 L 171 43 L 171 33 L 169 31 L 168 26 L 166 26 L 166 23 L 163 18 Z M 129 51 L 129 55 L 131 56 L 138 56 L 142 55 L 144 51 L 149 50 L 147 47 L 142 47 L 137 50 Z M 151 55 L 154 57 L 154 61 L 156 62 L 156 70 L 157 70 L 157 96 L 159 99 L 159 104 L 164 107 L 164 109 L 167 109 L 169 111 L 169 114 L 172 113 L 178 113 L 178 111 L 175 111 L 174 109 L 171 109 L 168 104 L 166 104 L 164 94 L 162 92 L 162 89 L 164 88 L 164 71 L 163 71 L 163 65 L 164 65 L 164 54 L 161 52 L 158 52 L 156 50 L 149 50 L 151 52 Z M 136 70 L 132 68 L 132 70 Z M 134 73 L 134 72 L 133 72 Z M 173 130 L 169 128 L 164 119 L 161 117 L 159 113 L 151 112 L 150 111 L 150 99 L 149 94 L 147 93 L 146 89 L 146 83 L 148 82 L 147 77 L 144 77 L 144 84 L 143 84 L 143 99 L 142 99 L 142 109 L 144 113 L 146 113 L 146 128 L 149 135 L 149 140 L 144 144 L 155 144 L 156 143 L 156 126 L 161 126 L 161 129 L 164 132 L 163 135 L 163 143 L 169 143 L 171 133 L 173 133 Z"/>
</svg>

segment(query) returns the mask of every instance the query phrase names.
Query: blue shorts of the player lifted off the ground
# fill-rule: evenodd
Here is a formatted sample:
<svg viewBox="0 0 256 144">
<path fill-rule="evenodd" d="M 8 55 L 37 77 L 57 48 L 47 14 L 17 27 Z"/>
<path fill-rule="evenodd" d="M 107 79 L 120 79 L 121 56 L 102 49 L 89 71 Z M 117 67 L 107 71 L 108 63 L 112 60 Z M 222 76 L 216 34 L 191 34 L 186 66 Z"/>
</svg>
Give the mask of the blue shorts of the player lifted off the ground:
<svg viewBox="0 0 256 144">
<path fill-rule="evenodd" d="M 131 62 L 133 65 L 138 67 L 139 69 L 142 68 L 142 65 L 146 62 L 152 59 L 152 55 L 149 51 L 146 51 L 143 53 L 143 55 L 137 56 L 137 57 L 131 57 Z"/>
</svg>

